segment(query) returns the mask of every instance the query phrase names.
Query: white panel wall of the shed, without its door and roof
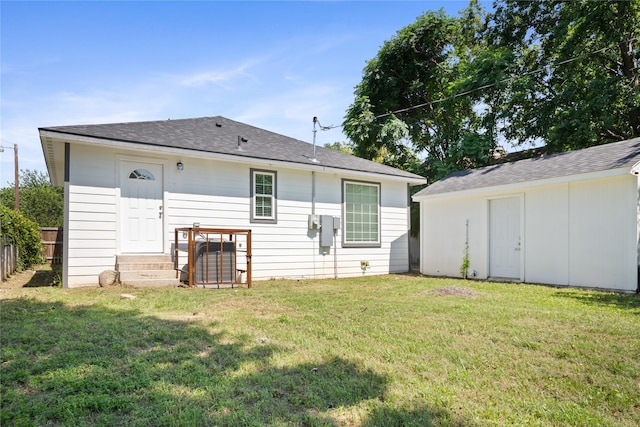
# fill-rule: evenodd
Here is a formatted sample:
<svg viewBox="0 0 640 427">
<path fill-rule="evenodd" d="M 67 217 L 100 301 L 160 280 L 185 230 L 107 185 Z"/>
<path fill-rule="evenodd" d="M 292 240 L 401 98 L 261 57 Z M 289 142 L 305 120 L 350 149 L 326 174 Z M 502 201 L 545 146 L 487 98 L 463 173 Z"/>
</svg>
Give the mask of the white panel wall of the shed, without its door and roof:
<svg viewBox="0 0 640 427">
<path fill-rule="evenodd" d="M 421 267 L 460 276 L 469 219 L 470 272 L 487 275 L 487 203 L 523 198 L 525 282 L 634 291 L 638 274 L 638 179 L 630 174 L 421 201 Z"/>
</svg>

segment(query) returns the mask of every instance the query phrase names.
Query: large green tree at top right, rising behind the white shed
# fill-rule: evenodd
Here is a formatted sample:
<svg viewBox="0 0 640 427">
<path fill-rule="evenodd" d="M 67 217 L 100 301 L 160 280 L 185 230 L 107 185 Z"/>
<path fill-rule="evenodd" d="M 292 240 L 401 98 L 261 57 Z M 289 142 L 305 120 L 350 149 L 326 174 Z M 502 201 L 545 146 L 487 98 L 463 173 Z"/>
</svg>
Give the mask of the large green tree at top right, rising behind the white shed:
<svg viewBox="0 0 640 427">
<path fill-rule="evenodd" d="M 506 138 L 551 152 L 640 136 L 640 0 L 498 1 L 479 33 L 514 77 Z"/>
</svg>

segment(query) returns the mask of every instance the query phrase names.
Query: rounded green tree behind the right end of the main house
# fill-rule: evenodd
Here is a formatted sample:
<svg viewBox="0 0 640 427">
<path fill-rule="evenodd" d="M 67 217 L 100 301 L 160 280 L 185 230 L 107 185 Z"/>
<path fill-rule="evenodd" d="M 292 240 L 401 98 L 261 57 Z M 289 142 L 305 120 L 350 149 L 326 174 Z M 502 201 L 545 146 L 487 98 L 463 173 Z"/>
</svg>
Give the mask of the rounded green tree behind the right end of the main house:
<svg viewBox="0 0 640 427">
<path fill-rule="evenodd" d="M 440 10 L 398 31 L 370 60 L 344 123 L 354 153 L 403 167 L 424 158 L 416 172 L 435 180 L 452 170 L 487 163 L 494 129 L 471 96 L 458 96 L 477 42 L 476 3 L 453 18 Z"/>
</svg>

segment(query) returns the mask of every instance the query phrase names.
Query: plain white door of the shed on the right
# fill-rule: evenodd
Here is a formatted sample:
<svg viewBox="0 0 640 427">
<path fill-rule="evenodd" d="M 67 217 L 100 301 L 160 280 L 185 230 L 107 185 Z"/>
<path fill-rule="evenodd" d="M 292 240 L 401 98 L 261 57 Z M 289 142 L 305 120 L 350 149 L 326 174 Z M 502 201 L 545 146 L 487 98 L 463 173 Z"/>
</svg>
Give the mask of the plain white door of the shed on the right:
<svg viewBox="0 0 640 427">
<path fill-rule="evenodd" d="M 520 198 L 489 201 L 489 276 L 520 279 Z"/>
</svg>

